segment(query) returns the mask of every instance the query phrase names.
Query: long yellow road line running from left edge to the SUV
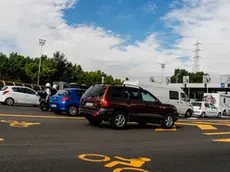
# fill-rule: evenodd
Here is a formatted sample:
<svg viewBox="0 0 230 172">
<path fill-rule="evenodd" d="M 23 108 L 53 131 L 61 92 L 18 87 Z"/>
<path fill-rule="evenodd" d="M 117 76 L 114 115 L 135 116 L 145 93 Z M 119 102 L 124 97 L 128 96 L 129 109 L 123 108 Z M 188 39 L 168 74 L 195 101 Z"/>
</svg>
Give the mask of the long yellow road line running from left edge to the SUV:
<svg viewBox="0 0 230 172">
<path fill-rule="evenodd" d="M 45 119 L 79 119 L 79 120 L 84 120 L 85 119 L 84 117 L 16 115 L 16 114 L 0 114 L 0 117 L 45 118 Z"/>
</svg>

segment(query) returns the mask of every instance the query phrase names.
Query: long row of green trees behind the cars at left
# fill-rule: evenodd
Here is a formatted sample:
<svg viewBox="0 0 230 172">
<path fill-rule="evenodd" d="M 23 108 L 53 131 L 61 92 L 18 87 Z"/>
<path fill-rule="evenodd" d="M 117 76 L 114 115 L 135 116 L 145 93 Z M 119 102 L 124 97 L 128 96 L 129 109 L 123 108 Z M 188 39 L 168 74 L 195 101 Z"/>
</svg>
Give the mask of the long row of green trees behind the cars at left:
<svg viewBox="0 0 230 172">
<path fill-rule="evenodd" d="M 114 79 L 100 70 L 83 71 L 81 65 L 69 62 L 59 51 L 55 52 L 53 57 L 41 58 L 40 84 L 65 81 L 92 85 L 101 83 L 102 76 L 105 78 L 105 83 L 122 83 L 120 79 Z M 39 61 L 40 57 L 29 58 L 17 53 L 6 56 L 0 53 L 0 79 L 36 84 Z"/>
</svg>

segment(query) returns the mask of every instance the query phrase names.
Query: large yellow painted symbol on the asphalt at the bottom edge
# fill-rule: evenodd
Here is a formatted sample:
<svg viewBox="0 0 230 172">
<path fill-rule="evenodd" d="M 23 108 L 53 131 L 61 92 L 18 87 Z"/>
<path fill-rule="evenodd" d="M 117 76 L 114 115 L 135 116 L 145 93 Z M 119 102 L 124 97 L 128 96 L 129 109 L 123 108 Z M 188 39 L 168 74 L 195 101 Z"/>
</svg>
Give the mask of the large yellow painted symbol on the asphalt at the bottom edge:
<svg viewBox="0 0 230 172">
<path fill-rule="evenodd" d="M 96 162 L 96 163 L 102 163 L 102 162 L 108 162 L 111 160 L 110 157 L 101 155 L 101 154 L 81 154 L 78 156 L 79 159 L 89 162 Z M 150 162 L 151 159 L 145 158 L 145 157 L 139 157 L 139 158 L 123 158 L 120 156 L 114 156 L 116 159 L 115 161 L 111 161 L 104 166 L 107 168 L 113 168 L 117 165 L 123 165 L 125 167 L 122 168 L 116 168 L 113 170 L 113 172 L 122 172 L 122 171 L 139 171 L 139 172 L 149 172 L 145 169 L 142 169 L 142 167 L 146 162 Z"/>
</svg>

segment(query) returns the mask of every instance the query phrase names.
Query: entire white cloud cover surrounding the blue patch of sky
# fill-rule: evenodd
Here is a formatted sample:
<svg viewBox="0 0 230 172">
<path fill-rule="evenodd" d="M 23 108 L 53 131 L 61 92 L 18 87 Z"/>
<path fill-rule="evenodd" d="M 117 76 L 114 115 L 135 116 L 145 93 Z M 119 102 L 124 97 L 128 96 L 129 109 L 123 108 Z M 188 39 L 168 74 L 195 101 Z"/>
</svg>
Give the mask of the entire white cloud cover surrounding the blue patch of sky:
<svg viewBox="0 0 230 172">
<path fill-rule="evenodd" d="M 166 63 L 165 75 L 171 75 L 175 68 L 191 70 L 192 60 L 182 63 L 177 57 L 193 57 L 193 44 L 199 40 L 203 43 L 201 70 L 211 74 L 229 73 L 230 0 L 182 1 L 182 8 L 174 5 L 165 16 L 168 26 L 173 26 L 182 36 L 174 50 L 162 50 L 157 33 L 136 45 L 120 48 L 126 40 L 111 30 L 95 24 L 67 25 L 63 10 L 76 5 L 77 0 L 1 1 L 0 51 L 39 56 L 38 39 L 44 38 L 44 53 L 49 56 L 58 50 L 85 70 L 100 69 L 116 77 L 148 79 L 151 75 L 161 75 L 162 59 Z M 175 25 L 178 21 L 180 25 Z M 159 48 L 161 51 L 157 51 Z"/>
</svg>

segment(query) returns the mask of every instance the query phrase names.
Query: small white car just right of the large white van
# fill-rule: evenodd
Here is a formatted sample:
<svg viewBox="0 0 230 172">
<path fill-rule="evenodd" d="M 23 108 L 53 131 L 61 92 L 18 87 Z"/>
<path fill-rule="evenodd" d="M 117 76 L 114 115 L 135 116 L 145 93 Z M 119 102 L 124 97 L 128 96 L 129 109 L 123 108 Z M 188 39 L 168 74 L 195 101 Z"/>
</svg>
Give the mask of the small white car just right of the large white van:
<svg viewBox="0 0 230 172">
<path fill-rule="evenodd" d="M 221 118 L 221 110 L 214 104 L 208 102 L 193 102 L 193 115 L 204 117 L 217 117 Z"/>
</svg>

